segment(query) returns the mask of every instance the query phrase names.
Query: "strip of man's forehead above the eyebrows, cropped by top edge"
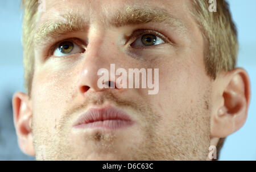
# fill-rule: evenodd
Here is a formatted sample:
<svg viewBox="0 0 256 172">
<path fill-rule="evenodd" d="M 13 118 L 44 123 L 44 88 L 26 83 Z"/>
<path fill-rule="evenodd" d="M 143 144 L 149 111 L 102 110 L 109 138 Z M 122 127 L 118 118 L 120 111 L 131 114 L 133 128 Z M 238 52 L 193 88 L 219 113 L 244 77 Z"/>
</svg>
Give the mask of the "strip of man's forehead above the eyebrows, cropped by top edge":
<svg viewBox="0 0 256 172">
<path fill-rule="evenodd" d="M 84 20 L 103 21 L 118 10 L 127 7 L 164 9 L 175 18 L 182 19 L 184 23 L 190 20 L 189 0 L 46 0 L 46 11 L 40 11 L 39 23 L 47 20 L 61 18 L 62 14 L 79 13 Z M 189 24 L 189 22 L 187 23 Z"/>
</svg>

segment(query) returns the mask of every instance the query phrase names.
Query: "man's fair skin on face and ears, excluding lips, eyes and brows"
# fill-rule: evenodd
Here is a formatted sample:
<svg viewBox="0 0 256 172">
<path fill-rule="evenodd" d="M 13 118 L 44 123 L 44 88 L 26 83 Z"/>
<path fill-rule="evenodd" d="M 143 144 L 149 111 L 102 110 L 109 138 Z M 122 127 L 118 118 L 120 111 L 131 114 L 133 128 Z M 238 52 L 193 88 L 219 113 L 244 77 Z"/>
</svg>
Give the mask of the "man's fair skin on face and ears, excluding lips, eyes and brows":
<svg viewBox="0 0 256 172">
<path fill-rule="evenodd" d="M 88 42 L 85 53 L 46 58 L 52 45 L 36 46 L 31 96 L 13 97 L 19 146 L 37 160 L 208 160 L 208 148 L 240 129 L 250 102 L 250 81 L 243 68 L 205 72 L 203 36 L 189 14 L 189 1 L 61 1 L 47 0 L 39 24 L 78 9 L 90 21 L 77 37 Z M 165 8 L 183 21 L 186 32 L 163 23 L 109 27 L 103 22 L 124 5 Z M 105 10 L 102 10 L 105 9 Z M 129 48 L 126 40 L 139 28 L 152 29 L 172 40 L 145 49 Z M 159 68 L 159 92 L 148 89 L 100 89 L 99 68 Z M 81 88 L 88 87 L 88 90 Z M 128 128 L 74 130 L 73 122 L 91 107 L 113 105 L 135 121 Z M 80 107 L 78 110 L 77 107 Z"/>
</svg>

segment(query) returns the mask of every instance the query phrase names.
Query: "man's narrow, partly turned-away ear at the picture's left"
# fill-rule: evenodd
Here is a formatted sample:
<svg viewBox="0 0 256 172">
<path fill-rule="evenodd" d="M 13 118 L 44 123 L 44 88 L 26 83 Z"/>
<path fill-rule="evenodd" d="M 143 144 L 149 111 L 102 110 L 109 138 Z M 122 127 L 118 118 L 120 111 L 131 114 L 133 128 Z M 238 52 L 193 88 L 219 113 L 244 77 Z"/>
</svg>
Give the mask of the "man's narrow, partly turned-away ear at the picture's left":
<svg viewBox="0 0 256 172">
<path fill-rule="evenodd" d="M 13 114 L 20 149 L 28 155 L 35 156 L 32 140 L 32 107 L 27 94 L 14 94 Z"/>
</svg>

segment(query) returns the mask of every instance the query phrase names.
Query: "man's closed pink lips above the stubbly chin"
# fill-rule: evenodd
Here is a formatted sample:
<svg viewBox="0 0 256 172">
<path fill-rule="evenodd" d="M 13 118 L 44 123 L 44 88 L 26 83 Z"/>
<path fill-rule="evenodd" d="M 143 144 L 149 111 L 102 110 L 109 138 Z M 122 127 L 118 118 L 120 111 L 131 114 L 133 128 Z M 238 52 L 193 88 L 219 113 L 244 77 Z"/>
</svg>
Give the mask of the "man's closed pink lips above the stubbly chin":
<svg viewBox="0 0 256 172">
<path fill-rule="evenodd" d="M 102 128 L 115 130 L 133 125 L 133 121 L 124 111 L 106 106 L 105 108 L 90 108 L 81 114 L 73 124 L 74 128 Z"/>
</svg>

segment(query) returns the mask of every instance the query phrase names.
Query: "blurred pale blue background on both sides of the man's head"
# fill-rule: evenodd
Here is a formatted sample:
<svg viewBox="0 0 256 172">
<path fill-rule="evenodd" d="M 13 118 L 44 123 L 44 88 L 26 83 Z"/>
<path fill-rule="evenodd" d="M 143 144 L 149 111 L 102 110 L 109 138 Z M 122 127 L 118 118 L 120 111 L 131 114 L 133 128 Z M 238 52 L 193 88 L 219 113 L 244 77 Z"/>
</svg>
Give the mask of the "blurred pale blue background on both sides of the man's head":
<svg viewBox="0 0 256 172">
<path fill-rule="evenodd" d="M 0 160 L 35 160 L 23 154 L 17 143 L 11 99 L 23 91 L 22 10 L 20 0 L 0 0 Z M 256 160 L 256 1 L 230 0 L 240 42 L 238 67 L 251 79 L 251 104 L 245 125 L 227 137 L 220 160 Z"/>
</svg>

